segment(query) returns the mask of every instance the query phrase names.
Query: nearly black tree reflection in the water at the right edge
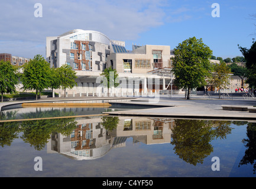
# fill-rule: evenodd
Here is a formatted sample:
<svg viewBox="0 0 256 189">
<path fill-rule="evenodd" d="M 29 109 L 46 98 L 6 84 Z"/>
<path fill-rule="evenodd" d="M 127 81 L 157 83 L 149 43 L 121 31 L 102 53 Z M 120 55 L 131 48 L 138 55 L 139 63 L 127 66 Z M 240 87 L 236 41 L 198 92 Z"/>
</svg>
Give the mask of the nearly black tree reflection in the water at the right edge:
<svg viewBox="0 0 256 189">
<path fill-rule="evenodd" d="M 256 123 L 248 123 L 247 126 L 247 136 L 248 139 L 243 139 L 242 143 L 244 143 L 247 149 L 245 150 L 245 155 L 239 162 L 238 167 L 241 165 L 251 164 L 253 165 L 253 174 L 256 171 Z"/>
</svg>

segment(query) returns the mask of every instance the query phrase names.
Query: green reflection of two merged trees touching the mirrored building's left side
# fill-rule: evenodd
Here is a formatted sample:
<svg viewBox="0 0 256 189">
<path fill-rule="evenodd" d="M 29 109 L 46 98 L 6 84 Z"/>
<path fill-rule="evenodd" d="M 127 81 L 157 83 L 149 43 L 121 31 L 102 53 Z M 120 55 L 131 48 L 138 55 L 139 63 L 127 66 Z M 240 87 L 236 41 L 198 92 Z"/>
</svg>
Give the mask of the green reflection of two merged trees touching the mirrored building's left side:
<svg viewBox="0 0 256 189">
<path fill-rule="evenodd" d="M 41 150 L 51 138 L 52 132 L 67 136 L 76 128 L 76 124 L 74 118 L 23 121 L 21 122 L 21 132 L 23 132 L 21 139 L 35 149 Z"/>
</svg>

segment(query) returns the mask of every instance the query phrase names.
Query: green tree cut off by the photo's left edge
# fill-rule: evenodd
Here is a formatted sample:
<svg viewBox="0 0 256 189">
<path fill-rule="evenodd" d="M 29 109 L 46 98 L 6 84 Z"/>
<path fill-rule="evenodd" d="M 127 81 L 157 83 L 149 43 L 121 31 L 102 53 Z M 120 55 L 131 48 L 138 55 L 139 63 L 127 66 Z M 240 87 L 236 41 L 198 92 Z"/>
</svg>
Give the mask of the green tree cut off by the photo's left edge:
<svg viewBox="0 0 256 189">
<path fill-rule="evenodd" d="M 0 93 L 4 102 L 4 93 L 15 93 L 18 84 L 18 71 L 9 61 L 0 61 Z"/>
</svg>

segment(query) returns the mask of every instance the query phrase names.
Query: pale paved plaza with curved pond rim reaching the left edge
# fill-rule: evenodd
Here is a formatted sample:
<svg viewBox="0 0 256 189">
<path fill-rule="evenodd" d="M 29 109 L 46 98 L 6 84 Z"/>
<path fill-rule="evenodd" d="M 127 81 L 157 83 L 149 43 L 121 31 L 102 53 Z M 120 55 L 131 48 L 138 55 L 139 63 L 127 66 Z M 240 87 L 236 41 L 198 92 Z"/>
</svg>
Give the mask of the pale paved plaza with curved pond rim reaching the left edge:
<svg viewBox="0 0 256 189">
<path fill-rule="evenodd" d="M 3 106 L 14 105 L 18 103 L 33 102 L 51 102 L 51 101 L 79 101 L 79 100 L 113 100 L 113 99 L 130 99 L 129 103 L 134 106 L 140 105 L 162 105 L 150 109 L 132 109 L 125 111 L 107 112 L 109 115 L 132 115 L 132 116 L 162 116 L 173 118 L 200 118 L 200 119 L 239 119 L 239 120 L 256 120 L 256 113 L 239 110 L 223 110 L 222 105 L 236 106 L 256 106 L 256 98 L 244 99 L 242 96 L 233 96 L 232 99 L 218 99 L 218 96 L 204 97 L 202 95 L 193 95 L 190 100 L 184 99 L 184 94 L 174 94 L 172 96 L 161 94 L 157 97 L 47 97 L 45 99 L 22 100 L 0 103 L 0 109 Z"/>
</svg>

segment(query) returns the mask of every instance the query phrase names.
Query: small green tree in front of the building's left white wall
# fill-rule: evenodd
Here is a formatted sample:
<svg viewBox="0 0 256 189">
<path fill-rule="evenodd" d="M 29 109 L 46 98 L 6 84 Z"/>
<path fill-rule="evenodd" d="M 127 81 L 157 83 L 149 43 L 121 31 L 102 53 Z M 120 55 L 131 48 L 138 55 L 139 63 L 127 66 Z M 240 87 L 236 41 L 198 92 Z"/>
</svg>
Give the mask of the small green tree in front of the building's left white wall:
<svg viewBox="0 0 256 189">
<path fill-rule="evenodd" d="M 72 89 L 74 86 L 77 85 L 75 79 L 76 71 L 72 69 L 71 66 L 67 64 L 63 64 L 59 69 L 59 80 L 60 80 L 60 87 L 64 89 L 64 97 L 66 97 L 66 89 Z"/>
</svg>

